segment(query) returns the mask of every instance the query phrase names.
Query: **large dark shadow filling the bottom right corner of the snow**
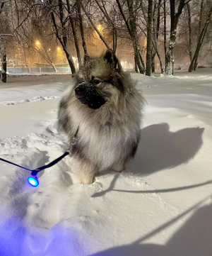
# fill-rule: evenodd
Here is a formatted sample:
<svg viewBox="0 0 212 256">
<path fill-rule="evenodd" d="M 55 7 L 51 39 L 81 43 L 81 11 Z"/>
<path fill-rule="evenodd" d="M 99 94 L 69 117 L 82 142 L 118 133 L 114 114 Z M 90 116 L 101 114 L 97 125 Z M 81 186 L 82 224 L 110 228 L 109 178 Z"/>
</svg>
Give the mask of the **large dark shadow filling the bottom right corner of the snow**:
<svg viewBox="0 0 212 256">
<path fill-rule="evenodd" d="M 212 204 L 201 207 L 201 204 L 208 201 L 209 198 L 211 195 L 134 243 L 113 247 L 90 256 L 211 256 Z M 143 243 L 192 211 L 194 211 L 192 217 L 172 235 L 165 245 Z"/>
</svg>

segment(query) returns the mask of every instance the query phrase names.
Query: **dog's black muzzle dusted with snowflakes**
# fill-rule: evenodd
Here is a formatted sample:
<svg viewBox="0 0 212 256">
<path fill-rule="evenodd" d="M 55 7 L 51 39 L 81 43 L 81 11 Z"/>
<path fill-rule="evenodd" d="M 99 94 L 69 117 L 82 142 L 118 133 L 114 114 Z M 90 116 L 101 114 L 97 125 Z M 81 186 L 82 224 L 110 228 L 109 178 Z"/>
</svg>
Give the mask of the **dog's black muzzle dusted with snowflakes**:
<svg viewBox="0 0 212 256">
<path fill-rule="evenodd" d="M 76 99 L 81 101 L 81 104 L 86 104 L 89 108 L 100 108 L 105 104 L 105 99 L 98 94 L 95 87 L 90 82 L 83 82 L 75 89 Z"/>
</svg>

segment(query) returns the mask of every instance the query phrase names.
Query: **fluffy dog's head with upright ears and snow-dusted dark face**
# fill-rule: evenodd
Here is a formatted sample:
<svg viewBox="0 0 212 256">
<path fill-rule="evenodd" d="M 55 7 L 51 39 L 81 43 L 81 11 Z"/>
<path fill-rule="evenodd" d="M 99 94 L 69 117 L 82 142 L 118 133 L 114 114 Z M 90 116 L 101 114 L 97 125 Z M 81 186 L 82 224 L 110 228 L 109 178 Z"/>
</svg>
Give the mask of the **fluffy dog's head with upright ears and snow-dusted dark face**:
<svg viewBox="0 0 212 256">
<path fill-rule="evenodd" d="M 81 104 L 97 109 L 106 102 L 117 101 L 124 91 L 122 68 L 112 50 L 98 58 L 86 56 L 75 77 L 75 96 Z"/>
</svg>

